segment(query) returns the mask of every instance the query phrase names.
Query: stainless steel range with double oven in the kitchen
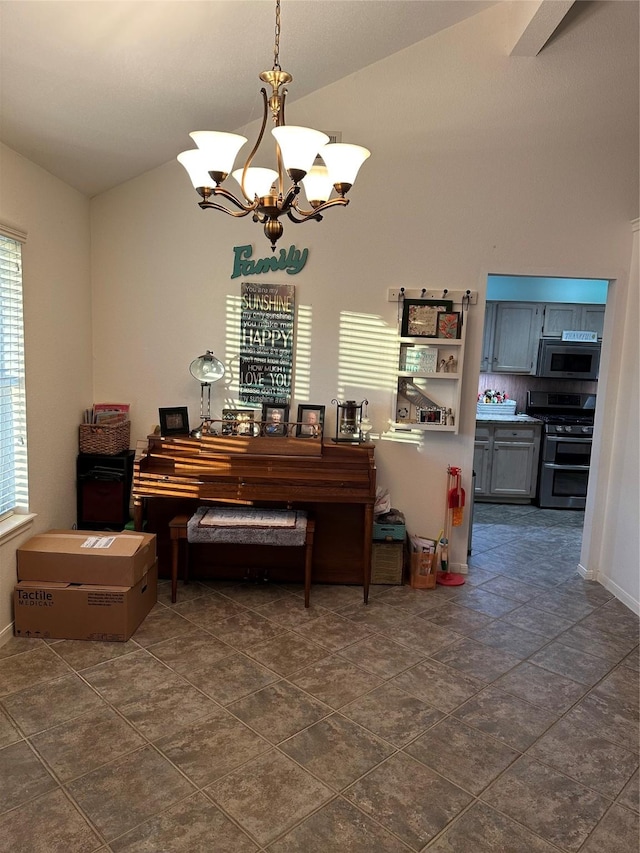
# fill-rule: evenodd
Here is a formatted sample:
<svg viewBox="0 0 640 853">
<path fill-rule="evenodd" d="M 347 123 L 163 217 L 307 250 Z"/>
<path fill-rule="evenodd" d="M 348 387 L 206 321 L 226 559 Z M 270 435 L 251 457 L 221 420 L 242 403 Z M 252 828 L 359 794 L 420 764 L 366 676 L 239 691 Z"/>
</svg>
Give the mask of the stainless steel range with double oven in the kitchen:
<svg viewBox="0 0 640 853">
<path fill-rule="evenodd" d="M 584 509 L 595 403 L 593 394 L 529 394 L 527 414 L 544 421 L 538 475 L 539 506 Z"/>
</svg>

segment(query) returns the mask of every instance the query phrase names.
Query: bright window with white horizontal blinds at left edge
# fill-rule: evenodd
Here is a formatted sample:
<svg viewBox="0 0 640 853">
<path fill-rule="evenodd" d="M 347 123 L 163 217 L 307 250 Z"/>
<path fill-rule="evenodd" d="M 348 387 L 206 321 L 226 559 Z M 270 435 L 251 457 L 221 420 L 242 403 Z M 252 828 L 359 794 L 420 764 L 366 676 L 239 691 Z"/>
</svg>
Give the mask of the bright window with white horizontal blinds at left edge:
<svg viewBox="0 0 640 853">
<path fill-rule="evenodd" d="M 0 519 L 28 509 L 23 242 L 0 227 Z"/>
</svg>

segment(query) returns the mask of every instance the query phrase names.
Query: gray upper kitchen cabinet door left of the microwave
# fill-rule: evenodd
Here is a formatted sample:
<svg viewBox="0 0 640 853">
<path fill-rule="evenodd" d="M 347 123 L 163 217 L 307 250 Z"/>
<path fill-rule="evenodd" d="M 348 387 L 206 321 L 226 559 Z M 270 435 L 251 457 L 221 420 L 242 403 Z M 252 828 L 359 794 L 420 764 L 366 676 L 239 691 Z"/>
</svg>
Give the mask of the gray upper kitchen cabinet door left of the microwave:
<svg viewBox="0 0 640 853">
<path fill-rule="evenodd" d="M 535 302 L 496 303 L 490 373 L 535 374 L 542 314 Z"/>
</svg>

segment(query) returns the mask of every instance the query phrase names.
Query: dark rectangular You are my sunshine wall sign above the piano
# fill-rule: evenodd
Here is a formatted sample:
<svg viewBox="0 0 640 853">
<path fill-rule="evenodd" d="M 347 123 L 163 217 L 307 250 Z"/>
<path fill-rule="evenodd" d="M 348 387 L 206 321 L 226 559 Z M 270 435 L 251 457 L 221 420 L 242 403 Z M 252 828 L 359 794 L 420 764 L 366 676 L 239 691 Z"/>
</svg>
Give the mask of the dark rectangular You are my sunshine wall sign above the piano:
<svg viewBox="0 0 640 853">
<path fill-rule="evenodd" d="M 295 285 L 242 282 L 240 399 L 291 402 Z"/>
</svg>

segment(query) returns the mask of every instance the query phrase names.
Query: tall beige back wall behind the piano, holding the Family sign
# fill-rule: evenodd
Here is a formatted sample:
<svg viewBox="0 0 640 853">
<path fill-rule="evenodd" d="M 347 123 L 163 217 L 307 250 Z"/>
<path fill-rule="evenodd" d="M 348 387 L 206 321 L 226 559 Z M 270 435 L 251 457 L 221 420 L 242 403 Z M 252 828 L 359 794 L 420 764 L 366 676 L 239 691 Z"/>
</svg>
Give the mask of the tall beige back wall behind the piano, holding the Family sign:
<svg viewBox="0 0 640 853">
<path fill-rule="evenodd" d="M 470 486 L 487 274 L 627 278 L 629 220 L 638 212 L 637 75 L 629 72 L 637 37 L 621 8 L 628 6 L 597 5 L 536 59 L 508 58 L 506 12 L 493 7 L 289 104 L 290 123 L 339 128 L 345 141 L 373 151 L 347 209 L 328 212 L 322 224 L 285 221 L 281 244 L 309 247 L 304 271 L 260 277 L 295 283 L 310 323 L 295 403 L 329 410 L 332 397 L 367 397 L 383 433 L 395 366 L 387 287 L 480 292 L 468 327 L 461 434 L 377 443 L 379 482 L 412 531 L 435 535 L 442 526 L 447 464 L 460 465 Z M 604 74 L 601 64 L 614 54 L 620 68 Z M 600 113 L 611 109 L 614 91 L 625 126 L 605 134 L 610 117 Z M 196 200 L 171 162 L 92 204 L 96 392 L 133 404 L 136 437 L 157 423 L 159 406 L 186 404 L 197 418 L 199 387 L 188 365 L 206 348 L 231 367 L 226 388 L 214 386 L 217 411 L 237 391 L 232 248 L 253 243 L 255 257 L 269 249 L 250 218 L 203 212 Z M 450 557 L 454 566 L 466 562 L 466 527 Z"/>
</svg>

